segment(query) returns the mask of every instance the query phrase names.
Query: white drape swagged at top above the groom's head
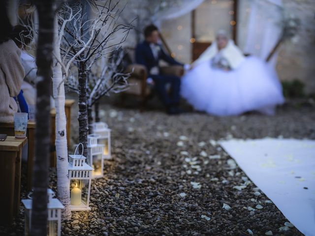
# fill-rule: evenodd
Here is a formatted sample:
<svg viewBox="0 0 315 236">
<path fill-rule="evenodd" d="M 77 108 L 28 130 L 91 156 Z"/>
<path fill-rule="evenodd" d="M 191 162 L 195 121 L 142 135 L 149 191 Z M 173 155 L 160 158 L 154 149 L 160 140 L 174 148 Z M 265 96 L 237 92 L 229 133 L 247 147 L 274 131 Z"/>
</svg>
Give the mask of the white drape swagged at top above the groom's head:
<svg viewBox="0 0 315 236">
<path fill-rule="evenodd" d="M 170 20 L 183 16 L 197 8 L 204 0 L 176 0 L 164 2 L 162 9 L 159 9 L 152 17 L 152 22 L 158 27 L 162 20 Z"/>
</svg>

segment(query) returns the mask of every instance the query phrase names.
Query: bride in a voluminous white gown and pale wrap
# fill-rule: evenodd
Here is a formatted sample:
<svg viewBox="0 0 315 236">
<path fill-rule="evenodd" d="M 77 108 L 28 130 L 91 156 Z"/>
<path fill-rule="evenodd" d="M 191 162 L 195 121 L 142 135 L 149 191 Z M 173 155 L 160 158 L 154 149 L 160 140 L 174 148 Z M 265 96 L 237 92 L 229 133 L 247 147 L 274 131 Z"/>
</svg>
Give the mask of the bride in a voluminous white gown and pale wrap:
<svg viewBox="0 0 315 236">
<path fill-rule="evenodd" d="M 260 59 L 244 57 L 224 30 L 182 78 L 181 94 L 196 110 L 217 116 L 273 115 L 284 103 L 276 72 Z"/>
</svg>

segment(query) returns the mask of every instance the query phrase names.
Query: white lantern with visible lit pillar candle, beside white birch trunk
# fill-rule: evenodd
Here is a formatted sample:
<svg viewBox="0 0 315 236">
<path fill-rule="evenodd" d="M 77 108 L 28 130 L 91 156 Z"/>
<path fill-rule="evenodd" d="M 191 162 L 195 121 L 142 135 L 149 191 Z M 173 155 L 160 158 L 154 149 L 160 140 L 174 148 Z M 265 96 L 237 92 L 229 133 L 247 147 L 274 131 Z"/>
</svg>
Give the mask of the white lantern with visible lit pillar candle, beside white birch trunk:
<svg viewBox="0 0 315 236">
<path fill-rule="evenodd" d="M 91 210 L 89 204 L 92 171 L 94 169 L 85 162 L 87 158 L 82 155 L 83 145 L 81 155 L 75 154 L 77 148 L 75 148 L 74 155 L 69 155 L 68 163 L 71 200 L 70 208 L 72 211 Z"/>
</svg>

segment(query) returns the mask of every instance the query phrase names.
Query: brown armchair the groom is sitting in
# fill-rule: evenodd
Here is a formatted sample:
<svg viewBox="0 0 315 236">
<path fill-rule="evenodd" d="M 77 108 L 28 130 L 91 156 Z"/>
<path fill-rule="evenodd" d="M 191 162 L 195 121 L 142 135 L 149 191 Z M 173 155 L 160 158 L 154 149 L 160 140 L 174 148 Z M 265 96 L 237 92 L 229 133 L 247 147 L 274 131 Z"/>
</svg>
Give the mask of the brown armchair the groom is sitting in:
<svg viewBox="0 0 315 236">
<path fill-rule="evenodd" d="M 140 97 L 141 105 L 140 111 L 143 111 L 146 107 L 147 101 L 153 96 L 154 87 L 149 86 L 147 83 L 147 69 L 144 65 L 134 63 L 134 48 L 126 48 L 126 53 L 132 64 L 126 67 L 125 73 L 130 73 L 128 79 L 129 89 L 124 92 L 124 95 L 133 95 Z M 184 74 L 184 68 L 180 65 L 161 66 L 160 72 L 163 75 L 176 75 L 182 77 Z"/>
</svg>

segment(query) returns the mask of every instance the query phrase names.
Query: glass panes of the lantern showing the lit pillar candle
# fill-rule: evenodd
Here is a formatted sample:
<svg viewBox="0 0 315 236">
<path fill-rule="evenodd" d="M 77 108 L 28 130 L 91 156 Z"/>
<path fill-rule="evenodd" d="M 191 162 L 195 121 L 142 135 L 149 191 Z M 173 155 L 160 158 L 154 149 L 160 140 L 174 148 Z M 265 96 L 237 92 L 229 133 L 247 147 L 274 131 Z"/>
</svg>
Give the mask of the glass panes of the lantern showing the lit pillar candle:
<svg viewBox="0 0 315 236">
<path fill-rule="evenodd" d="M 81 194 L 81 204 L 87 205 L 89 192 L 89 179 L 71 179 L 70 181 L 70 200 L 71 205 L 79 206 L 80 201 L 77 200 Z M 78 191 L 78 188 L 80 191 Z"/>
</svg>

